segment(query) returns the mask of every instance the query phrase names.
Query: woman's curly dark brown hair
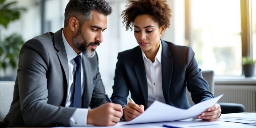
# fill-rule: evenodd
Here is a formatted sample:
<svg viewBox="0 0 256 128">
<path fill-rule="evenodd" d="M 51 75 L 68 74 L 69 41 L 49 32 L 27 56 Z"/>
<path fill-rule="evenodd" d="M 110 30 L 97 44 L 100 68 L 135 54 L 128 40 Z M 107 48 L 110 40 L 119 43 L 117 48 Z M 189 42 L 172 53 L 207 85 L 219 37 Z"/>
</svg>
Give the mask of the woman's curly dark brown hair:
<svg viewBox="0 0 256 128">
<path fill-rule="evenodd" d="M 123 25 L 126 31 L 132 30 L 133 21 L 138 15 L 148 14 L 152 19 L 158 22 L 159 27 L 165 25 L 170 27 L 170 18 L 172 10 L 166 3 L 166 0 L 127 0 L 126 9 L 122 12 Z"/>
</svg>

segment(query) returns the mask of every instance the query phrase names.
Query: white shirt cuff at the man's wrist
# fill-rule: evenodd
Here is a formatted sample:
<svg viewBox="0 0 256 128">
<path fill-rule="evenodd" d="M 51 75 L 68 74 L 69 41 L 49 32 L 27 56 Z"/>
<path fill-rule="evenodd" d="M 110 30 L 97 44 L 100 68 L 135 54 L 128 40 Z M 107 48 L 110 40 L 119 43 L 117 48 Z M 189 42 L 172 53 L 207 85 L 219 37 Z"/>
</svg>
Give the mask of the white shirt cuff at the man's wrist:
<svg viewBox="0 0 256 128">
<path fill-rule="evenodd" d="M 70 126 L 86 126 L 88 109 L 77 108 L 69 119 Z"/>
</svg>

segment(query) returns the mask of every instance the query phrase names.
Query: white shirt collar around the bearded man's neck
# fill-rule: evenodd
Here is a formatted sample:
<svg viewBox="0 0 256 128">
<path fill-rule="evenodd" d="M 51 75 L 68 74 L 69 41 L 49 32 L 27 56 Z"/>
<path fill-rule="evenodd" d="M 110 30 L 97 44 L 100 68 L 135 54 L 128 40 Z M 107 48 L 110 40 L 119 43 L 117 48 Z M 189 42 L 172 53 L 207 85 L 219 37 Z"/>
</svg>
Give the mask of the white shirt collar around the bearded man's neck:
<svg viewBox="0 0 256 128">
<path fill-rule="evenodd" d="M 66 40 L 66 38 L 64 36 L 63 30 L 62 30 L 61 34 L 62 34 L 62 40 L 63 40 L 64 46 L 65 46 L 65 50 L 67 53 L 68 61 L 74 59 L 78 55 L 81 55 L 81 57 L 82 57 L 82 52 L 80 52 L 80 54 L 76 54 L 75 50 L 69 45 L 68 41 Z"/>
</svg>

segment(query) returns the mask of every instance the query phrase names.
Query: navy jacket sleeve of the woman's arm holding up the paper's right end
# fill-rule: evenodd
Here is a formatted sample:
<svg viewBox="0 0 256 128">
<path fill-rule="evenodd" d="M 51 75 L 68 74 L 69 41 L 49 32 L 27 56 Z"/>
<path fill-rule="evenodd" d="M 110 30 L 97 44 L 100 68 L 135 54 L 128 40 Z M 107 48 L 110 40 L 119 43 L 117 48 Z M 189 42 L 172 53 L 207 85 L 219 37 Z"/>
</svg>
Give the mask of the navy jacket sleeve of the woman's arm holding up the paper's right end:
<svg viewBox="0 0 256 128">
<path fill-rule="evenodd" d="M 186 82 L 188 91 L 191 93 L 195 104 L 214 98 L 209 91 L 207 81 L 203 79 L 201 69 L 198 68 L 195 53 L 191 47 L 187 49 Z"/>
</svg>

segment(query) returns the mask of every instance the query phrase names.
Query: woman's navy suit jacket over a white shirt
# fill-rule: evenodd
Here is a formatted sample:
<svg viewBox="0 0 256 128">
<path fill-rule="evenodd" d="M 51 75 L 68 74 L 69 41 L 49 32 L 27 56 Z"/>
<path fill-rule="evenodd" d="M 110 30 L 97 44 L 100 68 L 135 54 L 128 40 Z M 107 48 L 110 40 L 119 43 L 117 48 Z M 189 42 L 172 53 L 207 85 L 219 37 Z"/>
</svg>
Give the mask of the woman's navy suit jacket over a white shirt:
<svg viewBox="0 0 256 128">
<path fill-rule="evenodd" d="M 208 83 L 198 68 L 191 47 L 162 42 L 162 87 L 166 104 L 188 109 L 186 87 L 194 103 L 213 98 Z M 148 107 L 148 87 L 144 61 L 139 46 L 118 53 L 111 100 L 127 104 L 129 91 L 136 104 Z"/>
</svg>

